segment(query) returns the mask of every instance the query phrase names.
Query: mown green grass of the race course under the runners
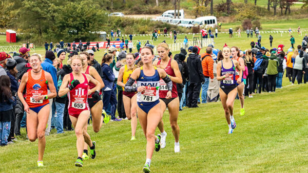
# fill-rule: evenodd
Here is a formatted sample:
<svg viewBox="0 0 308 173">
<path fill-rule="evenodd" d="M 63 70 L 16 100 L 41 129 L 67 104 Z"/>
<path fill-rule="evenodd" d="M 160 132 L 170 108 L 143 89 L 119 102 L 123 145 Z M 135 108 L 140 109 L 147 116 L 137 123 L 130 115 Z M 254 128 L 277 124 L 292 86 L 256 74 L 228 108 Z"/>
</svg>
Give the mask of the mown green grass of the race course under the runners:
<svg viewBox="0 0 308 173">
<path fill-rule="evenodd" d="M 168 133 L 166 148 L 153 154 L 153 172 L 295 172 L 307 171 L 306 107 L 307 85 L 289 85 L 283 89 L 245 99 L 245 116 L 239 116 L 235 101 L 237 127 L 227 135 L 228 127 L 220 102 L 201 104 L 197 109 L 179 113 L 181 153 L 174 153 L 174 137 L 168 113 L 164 114 Z M 285 87 L 286 86 L 286 87 Z M 25 130 L 17 142 L 0 149 L 1 172 L 141 172 L 145 162 L 146 140 L 138 123 L 136 141 L 130 141 L 130 122 L 110 122 L 95 134 L 97 158 L 86 160 L 84 168 L 73 164 L 77 153 L 75 135 L 66 132 L 46 137 L 44 168 L 36 167 L 37 141 L 25 140 Z M 158 130 L 157 132 L 158 133 Z"/>
</svg>

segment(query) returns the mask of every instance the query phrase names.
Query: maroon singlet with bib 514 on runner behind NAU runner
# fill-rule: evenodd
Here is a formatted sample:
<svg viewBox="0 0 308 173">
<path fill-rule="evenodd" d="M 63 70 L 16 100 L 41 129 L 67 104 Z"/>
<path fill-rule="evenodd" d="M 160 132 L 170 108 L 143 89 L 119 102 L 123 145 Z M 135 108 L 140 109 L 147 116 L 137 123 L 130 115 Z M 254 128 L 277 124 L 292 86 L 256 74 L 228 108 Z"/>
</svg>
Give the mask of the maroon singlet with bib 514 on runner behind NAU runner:
<svg viewBox="0 0 308 173">
<path fill-rule="evenodd" d="M 174 70 L 171 68 L 171 58 L 167 64 L 167 67 L 164 69 L 165 72 L 172 76 L 172 77 L 176 77 L 176 74 L 174 72 Z M 157 62 L 157 65 L 159 65 L 161 62 L 161 59 Z M 168 93 L 168 88 L 167 88 L 167 84 L 165 83 L 165 81 L 161 78 L 159 81 L 159 98 L 165 98 L 167 96 Z M 178 97 L 178 90 L 177 90 L 177 84 L 176 82 L 172 82 L 172 91 L 171 91 L 171 97 L 172 98 L 176 98 Z"/>
</svg>

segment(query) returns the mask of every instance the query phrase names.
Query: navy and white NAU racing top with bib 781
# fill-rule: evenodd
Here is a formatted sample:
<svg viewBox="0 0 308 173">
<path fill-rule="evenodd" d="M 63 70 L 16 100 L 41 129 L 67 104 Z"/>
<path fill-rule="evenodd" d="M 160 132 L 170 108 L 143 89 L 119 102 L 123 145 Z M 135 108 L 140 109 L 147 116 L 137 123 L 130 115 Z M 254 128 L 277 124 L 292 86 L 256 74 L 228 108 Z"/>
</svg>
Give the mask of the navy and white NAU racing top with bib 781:
<svg viewBox="0 0 308 173">
<path fill-rule="evenodd" d="M 145 86 L 144 92 L 137 93 L 137 102 L 155 102 L 159 99 L 159 73 L 155 68 L 153 76 L 146 76 L 143 73 L 143 67 L 140 68 L 140 76 L 137 79 L 137 87 Z"/>
</svg>

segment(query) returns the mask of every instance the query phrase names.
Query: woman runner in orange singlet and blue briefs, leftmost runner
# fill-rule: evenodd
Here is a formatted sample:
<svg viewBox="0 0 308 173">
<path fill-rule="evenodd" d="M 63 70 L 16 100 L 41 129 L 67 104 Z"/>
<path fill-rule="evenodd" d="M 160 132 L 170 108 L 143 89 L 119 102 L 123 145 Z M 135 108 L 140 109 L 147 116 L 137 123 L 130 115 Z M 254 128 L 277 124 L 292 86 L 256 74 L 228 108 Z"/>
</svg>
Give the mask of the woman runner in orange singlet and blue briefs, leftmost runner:
<svg viewBox="0 0 308 173">
<path fill-rule="evenodd" d="M 41 57 L 32 55 L 29 58 L 31 71 L 24 74 L 18 88 L 18 97 L 27 112 L 27 135 L 31 142 L 38 138 L 37 166 L 43 167 L 43 155 L 45 151 L 45 129 L 49 117 L 49 100 L 56 97 L 53 80 L 50 73 L 42 70 Z M 26 100 L 23 91 L 26 87 Z M 50 89 L 48 94 L 47 87 Z"/>
</svg>

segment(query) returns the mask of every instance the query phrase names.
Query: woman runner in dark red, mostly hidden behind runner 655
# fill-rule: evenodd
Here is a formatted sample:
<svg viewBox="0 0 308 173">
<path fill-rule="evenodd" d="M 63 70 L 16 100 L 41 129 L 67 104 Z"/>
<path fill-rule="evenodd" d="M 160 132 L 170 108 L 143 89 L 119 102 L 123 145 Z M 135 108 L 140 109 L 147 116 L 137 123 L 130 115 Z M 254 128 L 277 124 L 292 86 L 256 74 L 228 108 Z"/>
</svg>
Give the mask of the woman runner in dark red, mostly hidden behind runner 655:
<svg viewBox="0 0 308 173">
<path fill-rule="evenodd" d="M 98 133 L 100 131 L 101 123 L 103 123 L 102 117 L 102 110 L 103 110 L 103 101 L 102 101 L 102 91 L 101 89 L 104 87 L 104 82 L 98 73 L 98 71 L 92 67 L 88 66 L 88 63 L 90 62 L 90 55 L 87 52 L 80 53 L 80 57 L 83 58 L 84 66 L 82 67 L 82 73 L 88 74 L 92 76 L 95 80 L 99 81 L 101 84 L 100 91 L 94 92 L 93 94 L 88 95 L 88 104 L 91 111 L 92 116 L 92 126 L 93 131 L 95 133 Z M 93 89 L 95 85 L 91 82 L 89 82 L 89 88 L 90 90 Z M 87 132 L 87 124 L 85 127 L 85 131 Z M 85 144 L 84 152 L 82 155 L 83 159 L 89 159 L 88 156 L 88 146 Z"/>
</svg>

